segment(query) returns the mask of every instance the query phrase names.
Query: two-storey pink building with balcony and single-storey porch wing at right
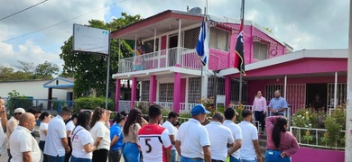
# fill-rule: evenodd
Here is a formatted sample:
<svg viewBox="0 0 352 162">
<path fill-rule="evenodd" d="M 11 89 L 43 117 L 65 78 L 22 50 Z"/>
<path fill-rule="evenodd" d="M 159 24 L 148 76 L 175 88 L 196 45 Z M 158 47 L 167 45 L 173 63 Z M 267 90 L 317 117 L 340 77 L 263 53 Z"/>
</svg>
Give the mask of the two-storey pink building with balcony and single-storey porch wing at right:
<svg viewBox="0 0 352 162">
<path fill-rule="evenodd" d="M 203 16 L 168 10 L 112 32 L 113 39 L 142 40 L 145 47 L 144 55 L 118 62 L 119 71 L 113 75 L 116 86 L 132 80 L 132 91 L 129 101 L 116 97 L 116 111 L 153 103 L 175 112 L 189 111 L 204 94 L 222 96 L 226 105 L 238 101 L 239 73 L 234 59 L 239 20 L 208 15 L 209 60 L 208 71 L 204 71 L 208 85 L 202 88 L 195 48 Z M 292 53 L 289 45 L 249 21 L 245 21 L 244 40 L 247 75 L 243 77 L 243 103 L 252 104 L 258 90 L 271 98 L 275 89 L 281 89 L 296 107 L 309 103 L 314 94 L 324 96 L 321 99 L 327 105 L 346 100 L 347 49 Z M 214 87 L 216 80 L 218 87 Z M 136 96 L 138 83 L 140 96 Z M 116 88 L 116 96 L 120 96 L 120 88 Z"/>
</svg>

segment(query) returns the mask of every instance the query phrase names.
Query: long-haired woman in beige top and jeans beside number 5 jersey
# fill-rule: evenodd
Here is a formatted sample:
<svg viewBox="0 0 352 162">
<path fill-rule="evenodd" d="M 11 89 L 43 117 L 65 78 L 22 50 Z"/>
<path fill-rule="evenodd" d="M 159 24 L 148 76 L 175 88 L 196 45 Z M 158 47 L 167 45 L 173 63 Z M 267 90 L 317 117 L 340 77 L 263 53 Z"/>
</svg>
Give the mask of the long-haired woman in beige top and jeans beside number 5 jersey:
<svg viewBox="0 0 352 162">
<path fill-rule="evenodd" d="M 140 152 L 137 147 L 138 130 L 142 125 L 142 112 L 139 109 L 132 109 L 123 127 L 125 147 L 123 157 L 125 162 L 139 162 Z"/>
</svg>

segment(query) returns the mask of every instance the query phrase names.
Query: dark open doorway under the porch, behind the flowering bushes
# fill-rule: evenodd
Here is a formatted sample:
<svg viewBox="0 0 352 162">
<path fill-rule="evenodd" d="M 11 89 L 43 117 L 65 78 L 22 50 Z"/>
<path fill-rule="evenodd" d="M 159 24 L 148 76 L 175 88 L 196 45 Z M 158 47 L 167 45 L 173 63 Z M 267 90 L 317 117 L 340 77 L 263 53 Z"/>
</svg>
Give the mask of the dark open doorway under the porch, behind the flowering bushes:
<svg viewBox="0 0 352 162">
<path fill-rule="evenodd" d="M 327 108 L 328 84 L 307 84 L 306 91 L 306 105 L 311 107 L 315 95 L 319 94 L 321 103 Z"/>
</svg>

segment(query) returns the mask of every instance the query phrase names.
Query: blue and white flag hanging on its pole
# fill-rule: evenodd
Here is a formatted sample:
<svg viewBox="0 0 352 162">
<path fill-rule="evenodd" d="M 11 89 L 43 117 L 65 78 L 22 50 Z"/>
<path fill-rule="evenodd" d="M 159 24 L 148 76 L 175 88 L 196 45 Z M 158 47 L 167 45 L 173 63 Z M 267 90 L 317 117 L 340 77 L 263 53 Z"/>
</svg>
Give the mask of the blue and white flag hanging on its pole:
<svg viewBox="0 0 352 162">
<path fill-rule="evenodd" d="M 200 26 L 199 38 L 198 38 L 197 49 L 196 49 L 199 56 L 199 60 L 203 64 L 203 66 L 206 66 L 208 62 L 208 39 L 207 39 L 208 24 L 205 19 L 206 18 L 203 19 L 203 22 L 201 23 L 201 26 Z"/>
</svg>

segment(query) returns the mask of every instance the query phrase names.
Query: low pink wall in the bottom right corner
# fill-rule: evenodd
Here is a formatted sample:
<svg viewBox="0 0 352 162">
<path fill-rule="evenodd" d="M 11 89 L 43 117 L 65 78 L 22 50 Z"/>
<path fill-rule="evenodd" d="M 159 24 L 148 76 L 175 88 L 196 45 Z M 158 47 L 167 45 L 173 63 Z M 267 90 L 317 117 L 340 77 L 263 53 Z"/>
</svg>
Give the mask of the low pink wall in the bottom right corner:
<svg viewBox="0 0 352 162">
<path fill-rule="evenodd" d="M 297 153 L 292 156 L 292 162 L 301 162 L 301 161 L 344 162 L 345 151 L 301 147 L 300 149 L 298 149 Z"/>
</svg>

